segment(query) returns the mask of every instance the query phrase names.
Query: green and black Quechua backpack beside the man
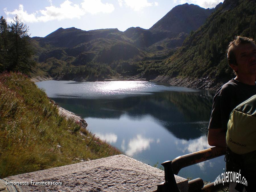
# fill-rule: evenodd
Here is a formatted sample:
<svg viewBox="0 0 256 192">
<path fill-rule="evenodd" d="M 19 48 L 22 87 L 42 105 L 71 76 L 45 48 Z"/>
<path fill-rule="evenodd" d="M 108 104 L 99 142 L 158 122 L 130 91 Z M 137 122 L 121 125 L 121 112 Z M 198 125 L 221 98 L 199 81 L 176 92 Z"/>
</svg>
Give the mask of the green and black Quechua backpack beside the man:
<svg viewBox="0 0 256 192">
<path fill-rule="evenodd" d="M 237 183 L 236 190 L 255 191 L 256 180 L 256 95 L 238 105 L 230 114 L 226 135 L 227 171 L 241 171 L 248 185 Z"/>
</svg>

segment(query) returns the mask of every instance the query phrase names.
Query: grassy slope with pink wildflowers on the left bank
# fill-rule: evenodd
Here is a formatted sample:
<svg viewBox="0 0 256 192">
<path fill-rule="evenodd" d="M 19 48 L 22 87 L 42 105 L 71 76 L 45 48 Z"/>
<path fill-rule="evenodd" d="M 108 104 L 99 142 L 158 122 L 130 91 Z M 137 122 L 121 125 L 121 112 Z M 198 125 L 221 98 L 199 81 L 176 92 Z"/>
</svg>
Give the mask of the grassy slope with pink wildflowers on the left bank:
<svg viewBox="0 0 256 192">
<path fill-rule="evenodd" d="M 0 74 L 0 177 L 120 154 L 58 114 L 20 73 Z"/>
</svg>

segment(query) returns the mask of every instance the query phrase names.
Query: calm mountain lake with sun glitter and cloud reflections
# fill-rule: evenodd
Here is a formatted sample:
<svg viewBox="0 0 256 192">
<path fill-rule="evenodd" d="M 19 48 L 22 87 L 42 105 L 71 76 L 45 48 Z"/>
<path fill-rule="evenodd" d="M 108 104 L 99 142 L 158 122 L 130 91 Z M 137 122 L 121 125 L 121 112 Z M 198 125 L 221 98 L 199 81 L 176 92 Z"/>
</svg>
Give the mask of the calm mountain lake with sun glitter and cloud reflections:
<svg viewBox="0 0 256 192">
<path fill-rule="evenodd" d="M 147 81 L 49 80 L 36 85 L 85 119 L 96 136 L 151 166 L 210 147 L 207 128 L 214 91 Z M 183 168 L 178 175 L 214 181 L 225 167 L 222 156 Z"/>
</svg>

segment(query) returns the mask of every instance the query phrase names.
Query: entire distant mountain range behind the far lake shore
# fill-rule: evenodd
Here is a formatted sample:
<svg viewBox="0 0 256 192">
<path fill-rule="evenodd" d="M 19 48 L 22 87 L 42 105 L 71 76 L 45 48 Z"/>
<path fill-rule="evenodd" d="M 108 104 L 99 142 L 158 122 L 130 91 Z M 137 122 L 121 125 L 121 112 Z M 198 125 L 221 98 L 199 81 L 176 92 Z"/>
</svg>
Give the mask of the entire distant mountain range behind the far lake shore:
<svg viewBox="0 0 256 192">
<path fill-rule="evenodd" d="M 59 28 L 44 38 L 31 38 L 38 71 L 67 80 L 137 75 L 147 60 L 158 63 L 170 57 L 213 11 L 186 3 L 174 7 L 150 29 L 131 27 L 125 32 Z"/>
</svg>

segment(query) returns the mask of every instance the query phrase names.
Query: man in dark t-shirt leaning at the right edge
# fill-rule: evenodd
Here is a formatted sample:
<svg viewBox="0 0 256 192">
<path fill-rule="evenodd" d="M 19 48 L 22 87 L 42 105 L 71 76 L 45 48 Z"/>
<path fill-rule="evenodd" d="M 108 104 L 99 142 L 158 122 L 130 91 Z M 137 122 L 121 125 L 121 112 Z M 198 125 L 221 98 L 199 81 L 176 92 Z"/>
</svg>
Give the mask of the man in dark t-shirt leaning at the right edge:
<svg viewBox="0 0 256 192">
<path fill-rule="evenodd" d="M 226 147 L 227 124 L 232 110 L 256 94 L 256 46 L 246 37 L 237 36 L 228 46 L 228 64 L 236 78 L 224 84 L 214 96 L 208 127 L 208 143 Z"/>
</svg>

